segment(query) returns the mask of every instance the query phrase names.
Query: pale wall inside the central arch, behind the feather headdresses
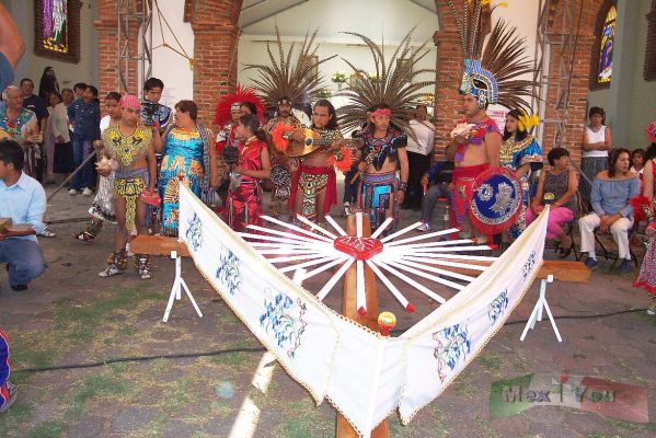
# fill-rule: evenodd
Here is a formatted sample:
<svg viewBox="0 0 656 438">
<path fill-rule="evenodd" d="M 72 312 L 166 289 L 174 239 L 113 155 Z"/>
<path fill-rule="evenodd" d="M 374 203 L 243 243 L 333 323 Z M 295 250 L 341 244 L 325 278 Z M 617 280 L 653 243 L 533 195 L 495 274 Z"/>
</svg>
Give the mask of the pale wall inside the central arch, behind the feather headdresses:
<svg viewBox="0 0 656 438">
<path fill-rule="evenodd" d="M 323 85 L 333 93 L 337 84 L 331 82 L 333 72 L 339 70 L 350 74 L 352 69 L 339 57 L 344 57 L 355 66 L 366 71 L 375 70 L 369 49 L 354 36 L 339 32 L 358 32 L 370 37 L 377 44 L 384 37 L 385 56 L 391 57 L 401 39 L 413 27 L 413 45 L 421 45 L 429 41 L 427 48 L 430 50 L 417 68 L 435 68 L 436 47 L 433 44 L 433 33 L 437 30 L 437 15 L 407 0 L 310 0 L 299 7 L 278 13 L 250 26 L 245 26 L 239 43 L 239 72 L 238 80 L 243 84 L 251 84 L 251 78 L 256 77 L 254 70 L 243 70 L 248 64 L 268 64 L 265 41 L 272 41 L 275 25 L 278 25 L 287 49 L 292 41 L 297 44 L 302 39 L 308 30 L 320 27 L 317 43 L 319 59 L 337 54 L 334 59 L 320 66 L 320 73 L 324 77 Z M 275 46 L 272 46 L 275 48 Z M 298 59 L 298 50 L 296 57 Z M 389 58 L 388 58 L 389 59 Z M 430 76 L 419 77 L 419 80 L 430 79 Z M 427 92 L 433 92 L 429 88 Z M 333 99 L 335 106 L 342 106 L 343 100 Z"/>
</svg>

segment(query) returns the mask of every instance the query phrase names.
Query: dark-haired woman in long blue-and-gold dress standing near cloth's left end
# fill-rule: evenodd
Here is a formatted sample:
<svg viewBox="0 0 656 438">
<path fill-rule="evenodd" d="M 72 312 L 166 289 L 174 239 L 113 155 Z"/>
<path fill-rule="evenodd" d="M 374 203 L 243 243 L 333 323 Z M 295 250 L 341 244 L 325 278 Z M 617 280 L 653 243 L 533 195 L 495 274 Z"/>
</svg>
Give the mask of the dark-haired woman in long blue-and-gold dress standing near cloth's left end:
<svg viewBox="0 0 656 438">
<path fill-rule="evenodd" d="M 187 185 L 204 203 L 219 185 L 214 135 L 197 124 L 198 107 L 193 101 L 175 105 L 175 124 L 162 138 L 160 170 L 161 234 L 177 237 L 180 183 Z"/>
</svg>

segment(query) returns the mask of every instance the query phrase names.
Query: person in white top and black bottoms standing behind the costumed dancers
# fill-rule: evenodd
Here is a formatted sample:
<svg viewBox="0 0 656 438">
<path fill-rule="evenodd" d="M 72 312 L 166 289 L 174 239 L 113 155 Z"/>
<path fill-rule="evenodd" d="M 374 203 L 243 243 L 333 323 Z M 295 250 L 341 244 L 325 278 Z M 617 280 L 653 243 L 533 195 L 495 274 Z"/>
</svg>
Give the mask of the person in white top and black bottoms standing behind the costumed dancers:
<svg viewBox="0 0 656 438">
<path fill-rule="evenodd" d="M 419 210 L 424 189 L 422 188 L 422 176 L 430 168 L 433 148 L 435 143 L 435 125 L 428 120 L 426 105 L 417 105 L 415 118 L 410 120 L 410 126 L 415 132 L 416 140 L 407 137 L 407 162 L 410 164 L 410 176 L 407 180 L 407 195 L 402 208 Z"/>
</svg>

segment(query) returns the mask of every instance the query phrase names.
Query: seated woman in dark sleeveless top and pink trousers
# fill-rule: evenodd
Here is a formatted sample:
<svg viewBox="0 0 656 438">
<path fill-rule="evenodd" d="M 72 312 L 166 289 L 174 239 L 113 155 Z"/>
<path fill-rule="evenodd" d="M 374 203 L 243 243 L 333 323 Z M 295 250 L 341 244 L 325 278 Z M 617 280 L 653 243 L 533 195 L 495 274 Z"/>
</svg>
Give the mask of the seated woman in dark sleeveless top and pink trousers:
<svg viewBox="0 0 656 438">
<path fill-rule="evenodd" d="M 530 224 L 544 206 L 550 205 L 546 239 L 560 239 L 560 258 L 565 258 L 572 252 L 574 242 L 562 226 L 574 220 L 578 175 L 569 168 L 569 152 L 565 148 L 553 148 L 546 160 L 551 169 L 540 173 L 536 196 L 526 210 L 526 221 Z"/>
</svg>

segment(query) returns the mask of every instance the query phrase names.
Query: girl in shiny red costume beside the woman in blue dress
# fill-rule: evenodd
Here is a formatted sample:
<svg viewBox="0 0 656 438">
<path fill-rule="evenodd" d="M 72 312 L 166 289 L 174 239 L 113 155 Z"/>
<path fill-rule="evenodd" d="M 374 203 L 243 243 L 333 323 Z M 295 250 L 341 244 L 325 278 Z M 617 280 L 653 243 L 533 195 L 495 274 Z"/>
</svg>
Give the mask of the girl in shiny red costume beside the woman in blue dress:
<svg viewBox="0 0 656 438">
<path fill-rule="evenodd" d="M 239 118 L 235 128 L 239 143 L 239 161 L 230 172 L 223 220 L 234 231 L 243 231 L 246 224 L 261 226 L 262 180 L 271 177 L 271 160 L 264 130 L 257 116 L 252 114 Z"/>
</svg>

